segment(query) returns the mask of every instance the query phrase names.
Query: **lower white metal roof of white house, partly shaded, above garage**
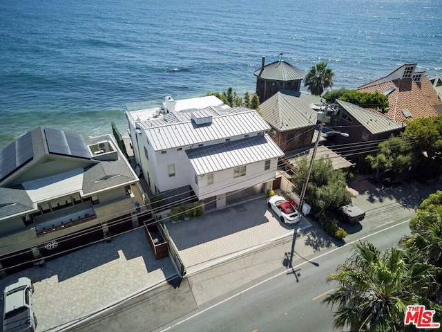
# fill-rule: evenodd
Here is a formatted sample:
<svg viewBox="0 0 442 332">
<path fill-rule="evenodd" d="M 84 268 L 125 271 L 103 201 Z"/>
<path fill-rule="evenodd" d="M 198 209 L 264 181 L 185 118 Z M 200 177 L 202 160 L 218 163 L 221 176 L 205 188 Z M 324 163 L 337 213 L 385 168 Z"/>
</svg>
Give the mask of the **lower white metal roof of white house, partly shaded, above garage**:
<svg viewBox="0 0 442 332">
<path fill-rule="evenodd" d="M 284 152 L 267 133 L 210 147 L 190 149 L 186 154 L 198 175 L 284 156 Z"/>
</svg>

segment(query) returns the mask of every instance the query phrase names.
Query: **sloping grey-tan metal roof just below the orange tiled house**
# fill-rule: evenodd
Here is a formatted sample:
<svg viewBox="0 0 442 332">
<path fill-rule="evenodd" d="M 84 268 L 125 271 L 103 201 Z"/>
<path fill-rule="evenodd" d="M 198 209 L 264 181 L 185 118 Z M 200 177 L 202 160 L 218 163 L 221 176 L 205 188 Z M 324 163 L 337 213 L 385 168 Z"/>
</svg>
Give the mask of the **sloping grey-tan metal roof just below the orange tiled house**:
<svg viewBox="0 0 442 332">
<path fill-rule="evenodd" d="M 364 109 L 363 107 L 356 106 L 351 102 L 343 102 L 342 100 L 336 100 L 336 102 L 367 128 L 370 133 L 383 133 L 403 127 L 403 124 L 399 122 L 385 118 L 385 116 Z"/>
</svg>

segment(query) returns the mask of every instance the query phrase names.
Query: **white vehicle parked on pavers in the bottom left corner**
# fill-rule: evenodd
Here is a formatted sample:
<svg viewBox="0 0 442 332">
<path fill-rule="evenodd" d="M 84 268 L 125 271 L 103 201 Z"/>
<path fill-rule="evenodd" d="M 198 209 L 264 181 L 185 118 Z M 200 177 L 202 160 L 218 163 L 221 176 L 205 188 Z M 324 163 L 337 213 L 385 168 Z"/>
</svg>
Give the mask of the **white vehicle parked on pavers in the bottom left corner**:
<svg viewBox="0 0 442 332">
<path fill-rule="evenodd" d="M 34 286 L 27 277 L 19 278 L 4 291 L 3 332 L 35 331 L 37 319 L 32 309 Z"/>
</svg>

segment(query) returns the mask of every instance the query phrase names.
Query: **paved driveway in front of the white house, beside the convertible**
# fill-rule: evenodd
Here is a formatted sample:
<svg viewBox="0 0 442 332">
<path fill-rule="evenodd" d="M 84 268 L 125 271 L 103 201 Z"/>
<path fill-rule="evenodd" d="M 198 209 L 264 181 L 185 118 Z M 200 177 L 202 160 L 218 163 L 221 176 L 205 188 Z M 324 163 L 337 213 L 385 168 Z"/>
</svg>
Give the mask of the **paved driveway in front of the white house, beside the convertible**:
<svg viewBox="0 0 442 332">
<path fill-rule="evenodd" d="M 166 223 L 188 274 L 240 255 L 257 246 L 288 237 L 294 225 L 282 223 L 260 197 L 180 223 Z M 302 217 L 298 230 L 311 228 Z"/>
</svg>

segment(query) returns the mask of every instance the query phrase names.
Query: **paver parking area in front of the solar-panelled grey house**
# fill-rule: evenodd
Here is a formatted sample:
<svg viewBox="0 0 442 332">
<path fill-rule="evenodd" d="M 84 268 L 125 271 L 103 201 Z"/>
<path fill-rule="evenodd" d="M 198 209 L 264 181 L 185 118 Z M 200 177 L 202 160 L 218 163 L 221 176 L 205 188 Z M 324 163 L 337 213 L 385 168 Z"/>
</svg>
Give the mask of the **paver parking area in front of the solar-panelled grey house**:
<svg viewBox="0 0 442 332">
<path fill-rule="evenodd" d="M 144 230 L 88 246 L 0 280 L 3 290 L 21 276 L 34 282 L 37 331 L 77 320 L 176 275 L 169 257 L 155 260 Z M 2 301 L 3 302 L 3 299 Z M 3 307 L 3 303 L 1 303 Z"/>
</svg>

